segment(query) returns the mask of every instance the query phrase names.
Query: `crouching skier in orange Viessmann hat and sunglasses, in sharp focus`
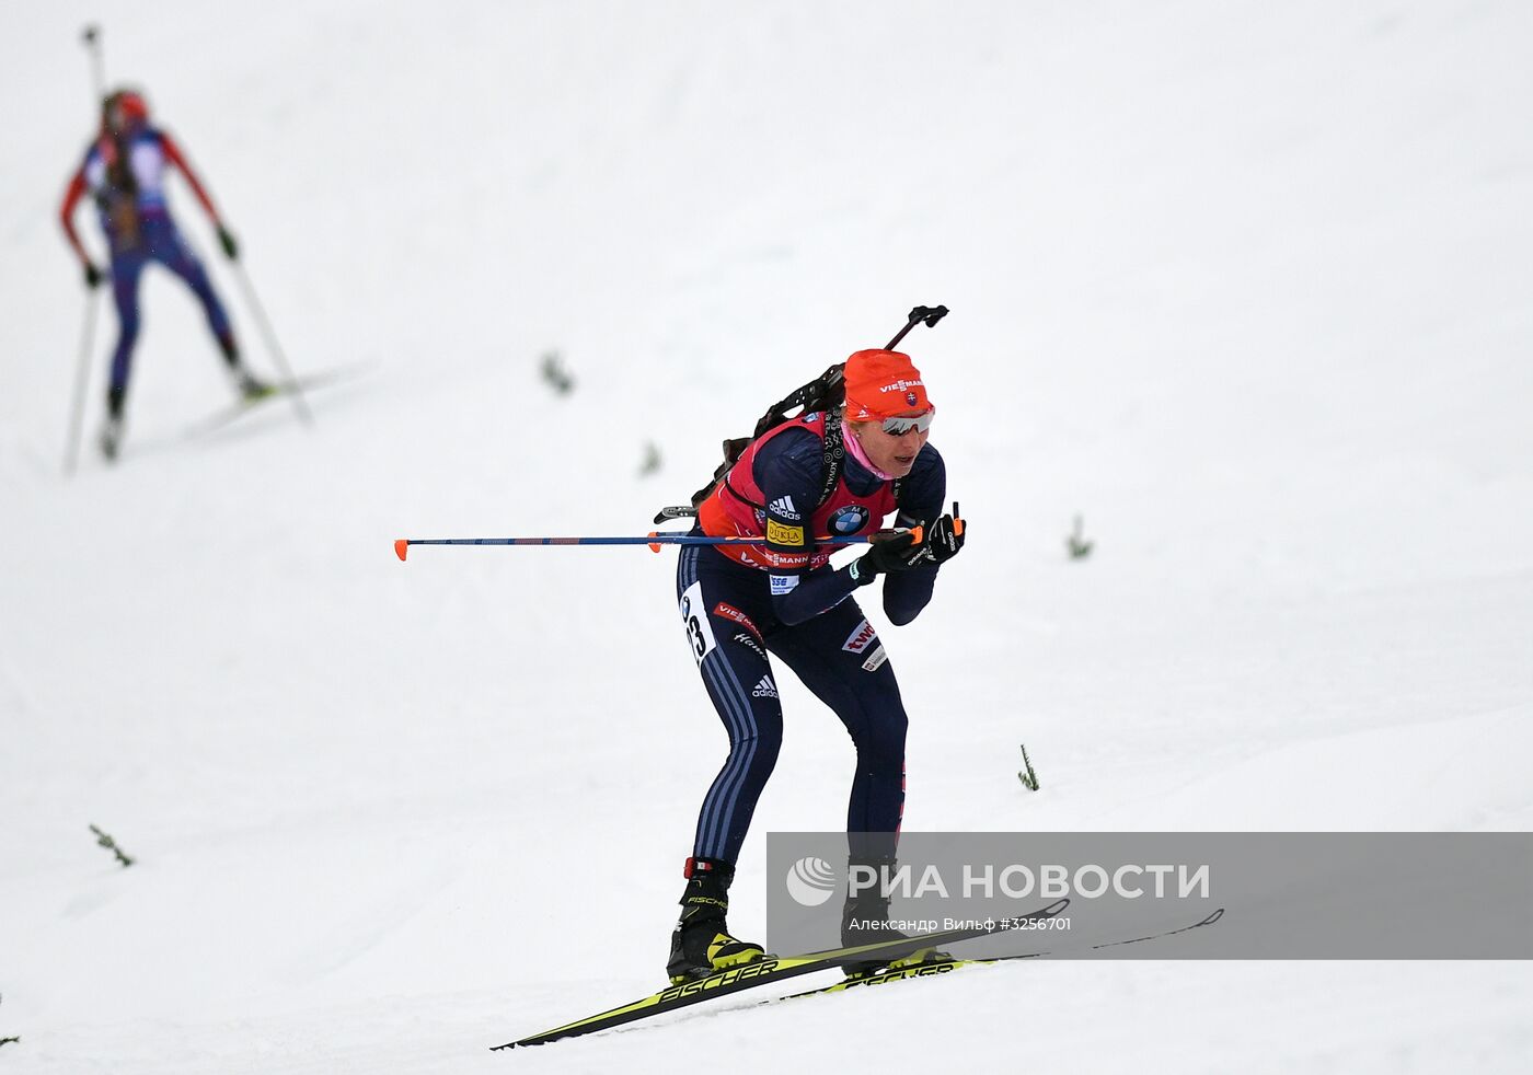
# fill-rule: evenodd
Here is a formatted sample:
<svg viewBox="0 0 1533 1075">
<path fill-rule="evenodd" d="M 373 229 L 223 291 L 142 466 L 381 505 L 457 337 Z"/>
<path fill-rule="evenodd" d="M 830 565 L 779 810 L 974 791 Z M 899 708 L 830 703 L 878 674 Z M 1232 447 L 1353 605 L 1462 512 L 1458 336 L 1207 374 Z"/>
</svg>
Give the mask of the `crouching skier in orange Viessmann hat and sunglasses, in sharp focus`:
<svg viewBox="0 0 1533 1075">
<path fill-rule="evenodd" d="M 762 544 L 685 546 L 676 575 L 681 616 L 730 756 L 713 781 L 687 859 L 682 914 L 667 972 L 696 980 L 762 958 L 725 923 L 734 863 L 782 742 L 782 705 L 768 653 L 834 710 L 857 748 L 846 814 L 851 865 L 892 865 L 904 810 L 906 715 L 877 632 L 854 593 L 880 575 L 883 609 L 908 624 L 932 598 L 938 567 L 963 549 L 963 520 L 943 514 L 946 471 L 927 443 L 935 408 L 909 356 L 857 351 L 845 405 L 802 414 L 757 437 L 699 505 L 693 534 L 762 537 Z M 843 451 L 845 449 L 845 451 Z M 839 472 L 837 472 L 839 471 Z M 845 567 L 817 535 L 901 528 Z M 886 940 L 888 899 L 862 894 L 842 917 L 843 945 Z M 871 971 L 872 966 L 849 968 Z"/>
</svg>

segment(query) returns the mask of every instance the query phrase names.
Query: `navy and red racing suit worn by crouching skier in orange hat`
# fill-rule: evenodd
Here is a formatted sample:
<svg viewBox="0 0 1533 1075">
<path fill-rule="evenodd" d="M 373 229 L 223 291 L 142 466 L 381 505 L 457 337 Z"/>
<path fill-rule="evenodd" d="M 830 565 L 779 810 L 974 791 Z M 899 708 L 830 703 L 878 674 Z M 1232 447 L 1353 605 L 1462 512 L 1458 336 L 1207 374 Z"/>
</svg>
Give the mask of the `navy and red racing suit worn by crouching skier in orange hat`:
<svg viewBox="0 0 1533 1075">
<path fill-rule="evenodd" d="M 848 434 L 849 436 L 849 434 Z M 855 859 L 892 859 L 904 810 L 906 713 L 894 666 L 832 546 L 816 535 L 877 531 L 895 511 L 892 482 L 846 455 L 820 505 L 825 416 L 762 434 L 699 508 L 694 534 L 766 537 L 763 546 L 684 546 L 676 595 L 687 641 L 730 735 L 730 756 L 702 802 L 694 857 L 736 862 L 782 744 L 771 656 L 825 702 L 852 738 L 857 770 L 846 810 Z M 946 472 L 926 445 L 900 483 L 898 524 L 941 515 Z M 932 598 L 938 567 L 885 575 L 883 607 L 911 623 Z"/>
</svg>

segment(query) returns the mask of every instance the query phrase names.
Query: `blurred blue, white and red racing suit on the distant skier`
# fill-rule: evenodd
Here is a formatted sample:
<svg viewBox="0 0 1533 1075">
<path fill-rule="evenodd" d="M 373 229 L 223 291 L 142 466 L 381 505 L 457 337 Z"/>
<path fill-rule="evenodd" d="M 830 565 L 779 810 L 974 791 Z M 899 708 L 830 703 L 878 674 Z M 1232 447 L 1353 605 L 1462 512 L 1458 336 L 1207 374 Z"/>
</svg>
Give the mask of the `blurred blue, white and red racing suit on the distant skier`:
<svg viewBox="0 0 1533 1075">
<path fill-rule="evenodd" d="M 69 245 L 81 262 L 89 261 L 74 215 L 81 198 L 89 193 L 100 210 L 112 258 L 112 298 L 117 304 L 120 333 L 112 353 L 112 388 L 127 388 L 133 344 L 138 340 L 138 278 L 149 262 L 159 262 L 192 288 L 208 328 L 225 357 L 235 353 L 233 333 L 224 305 L 213 293 L 207 270 L 181 238 L 166 202 L 166 172 L 181 169 L 202 209 L 219 222 L 213 199 L 187 164 L 176 143 L 166 132 L 140 126 L 121 140 L 103 135 L 86 150 L 75 175 L 64 190 L 58 215 Z"/>
</svg>

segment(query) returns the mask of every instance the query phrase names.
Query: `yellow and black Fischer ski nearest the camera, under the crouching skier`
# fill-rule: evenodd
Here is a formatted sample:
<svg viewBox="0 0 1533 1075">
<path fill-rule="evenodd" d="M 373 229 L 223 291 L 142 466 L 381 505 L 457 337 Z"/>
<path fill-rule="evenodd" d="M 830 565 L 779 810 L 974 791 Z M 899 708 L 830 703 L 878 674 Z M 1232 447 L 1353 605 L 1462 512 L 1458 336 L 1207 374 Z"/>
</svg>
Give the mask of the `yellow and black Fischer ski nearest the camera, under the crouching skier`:
<svg viewBox="0 0 1533 1075">
<path fill-rule="evenodd" d="M 586 1034 L 596 1034 L 598 1031 L 610 1031 L 612 1027 L 624 1026 L 625 1023 L 636 1023 L 638 1020 L 650 1018 L 653 1015 L 664 1015 L 665 1012 L 673 1012 L 679 1008 L 687 1008 L 688 1004 L 696 1004 L 704 1000 L 727 997 L 744 989 L 754 989 L 757 986 L 785 981 L 786 978 L 796 978 L 800 974 L 829 971 L 846 963 L 863 963 L 869 958 L 897 960 L 901 955 L 909 955 L 911 952 L 923 948 L 957 945 L 958 942 L 984 937 L 992 932 L 1001 932 L 1003 929 L 1016 929 L 1023 922 L 1052 919 L 1069 905 L 1070 900 L 1067 899 L 1055 900 L 1049 906 L 1033 911 L 1032 914 L 995 920 L 990 926 L 946 929 L 941 932 L 901 937 L 898 940 L 886 940 L 874 945 L 860 945 L 857 948 L 831 948 L 823 952 L 809 952 L 806 955 L 768 955 L 754 963 L 733 966 L 728 971 L 721 971 L 707 978 L 668 986 L 656 994 L 650 994 L 648 997 L 641 997 L 632 1004 L 622 1004 L 621 1008 L 613 1008 L 589 1018 L 566 1023 L 564 1026 L 556 1026 L 552 1031 L 533 1034 L 530 1037 L 507 1041 L 506 1044 L 494 1047 L 515 1049 L 517 1046 L 541 1046 L 563 1038 L 578 1038 Z M 926 965 L 917 965 L 911 969 L 918 971 L 920 966 Z M 938 963 L 932 966 L 941 965 Z"/>
</svg>

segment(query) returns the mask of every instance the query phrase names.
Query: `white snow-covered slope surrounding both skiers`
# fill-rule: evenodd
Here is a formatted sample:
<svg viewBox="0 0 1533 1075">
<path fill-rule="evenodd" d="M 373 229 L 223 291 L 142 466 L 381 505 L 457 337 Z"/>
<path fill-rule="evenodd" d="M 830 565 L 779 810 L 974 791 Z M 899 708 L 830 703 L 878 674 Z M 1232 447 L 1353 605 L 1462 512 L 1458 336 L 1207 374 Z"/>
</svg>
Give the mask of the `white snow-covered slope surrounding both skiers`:
<svg viewBox="0 0 1533 1075">
<path fill-rule="evenodd" d="M 153 270 L 127 454 L 61 477 L 90 20 L 293 365 L 368 363 L 314 429 L 184 442 L 230 388 Z M 6 3 L 0 1070 L 1528 1070 L 1533 972 L 1469 962 L 1035 962 L 492 1054 L 661 983 L 725 736 L 673 552 L 391 541 L 644 534 L 941 302 L 972 540 L 914 626 L 865 603 L 908 828 L 1527 830 L 1530 55 L 1515 0 Z M 744 935 L 852 764 L 782 687 Z"/>
</svg>

